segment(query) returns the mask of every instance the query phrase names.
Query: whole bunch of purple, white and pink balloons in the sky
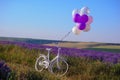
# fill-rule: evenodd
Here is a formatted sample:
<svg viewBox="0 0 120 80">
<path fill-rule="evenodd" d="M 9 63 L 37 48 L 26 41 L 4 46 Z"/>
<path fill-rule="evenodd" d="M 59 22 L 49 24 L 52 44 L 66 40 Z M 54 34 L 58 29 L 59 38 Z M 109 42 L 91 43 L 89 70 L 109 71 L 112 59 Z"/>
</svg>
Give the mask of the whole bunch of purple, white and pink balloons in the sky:
<svg viewBox="0 0 120 80">
<path fill-rule="evenodd" d="M 80 10 L 73 10 L 72 18 L 76 23 L 75 27 L 72 29 L 74 34 L 78 35 L 81 31 L 88 32 L 90 30 L 90 24 L 93 22 L 93 18 L 89 16 L 89 13 L 88 7 L 83 7 Z"/>
</svg>

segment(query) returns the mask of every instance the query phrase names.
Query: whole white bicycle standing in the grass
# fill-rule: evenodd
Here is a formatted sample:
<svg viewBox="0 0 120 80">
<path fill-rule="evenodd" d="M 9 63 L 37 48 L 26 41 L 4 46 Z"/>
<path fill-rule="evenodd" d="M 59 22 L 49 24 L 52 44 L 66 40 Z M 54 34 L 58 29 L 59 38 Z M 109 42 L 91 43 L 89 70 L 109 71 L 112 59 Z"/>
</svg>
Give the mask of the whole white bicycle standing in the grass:
<svg viewBox="0 0 120 80">
<path fill-rule="evenodd" d="M 43 69 L 48 69 L 51 73 L 57 76 L 65 75 L 65 73 L 68 71 L 68 63 L 64 58 L 60 56 L 60 49 L 61 48 L 58 48 L 57 56 L 50 60 L 51 48 L 46 48 L 48 54 L 40 54 L 40 56 L 36 60 L 36 71 L 41 72 Z"/>
</svg>

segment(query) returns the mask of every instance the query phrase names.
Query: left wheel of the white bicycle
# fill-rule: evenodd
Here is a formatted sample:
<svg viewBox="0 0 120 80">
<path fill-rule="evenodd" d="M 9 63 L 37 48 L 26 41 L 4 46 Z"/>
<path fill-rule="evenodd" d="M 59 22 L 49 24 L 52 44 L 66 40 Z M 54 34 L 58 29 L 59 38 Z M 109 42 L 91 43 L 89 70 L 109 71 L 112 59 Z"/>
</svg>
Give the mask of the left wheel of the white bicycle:
<svg viewBox="0 0 120 80">
<path fill-rule="evenodd" d="M 45 68 L 45 66 L 43 64 L 43 61 L 45 61 L 45 60 L 46 60 L 46 56 L 40 54 L 40 56 L 37 58 L 36 63 L 35 63 L 36 71 L 41 72 Z"/>
</svg>

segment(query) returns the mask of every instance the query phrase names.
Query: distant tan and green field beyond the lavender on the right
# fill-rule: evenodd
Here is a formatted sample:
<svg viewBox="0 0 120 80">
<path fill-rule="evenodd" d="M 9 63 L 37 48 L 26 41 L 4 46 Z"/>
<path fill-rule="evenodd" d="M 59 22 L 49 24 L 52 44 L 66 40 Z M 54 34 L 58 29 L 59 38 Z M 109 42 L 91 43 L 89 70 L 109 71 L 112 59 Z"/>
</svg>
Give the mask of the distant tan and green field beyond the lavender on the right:
<svg viewBox="0 0 120 80">
<path fill-rule="evenodd" d="M 49 46 L 55 46 L 55 44 L 46 44 Z M 89 49 L 97 51 L 107 51 L 120 53 L 120 45 L 112 43 L 97 43 L 97 42 L 76 42 L 76 43 L 60 43 L 62 47 L 78 48 L 78 49 Z"/>
</svg>

